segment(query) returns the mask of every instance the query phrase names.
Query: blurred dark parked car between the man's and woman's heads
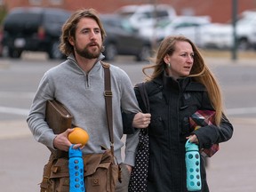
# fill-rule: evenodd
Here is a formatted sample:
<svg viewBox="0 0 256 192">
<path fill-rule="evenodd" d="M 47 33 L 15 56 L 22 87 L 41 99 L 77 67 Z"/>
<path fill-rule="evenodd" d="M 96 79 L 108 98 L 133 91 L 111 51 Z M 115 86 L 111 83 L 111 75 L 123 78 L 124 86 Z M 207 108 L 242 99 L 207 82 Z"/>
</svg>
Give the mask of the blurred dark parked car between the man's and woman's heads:
<svg viewBox="0 0 256 192">
<path fill-rule="evenodd" d="M 140 36 L 129 20 L 115 14 L 100 15 L 106 30 L 104 41 L 105 60 L 115 60 L 116 55 L 134 55 L 136 60 L 148 60 L 151 55 L 151 43 L 145 36 Z"/>
</svg>

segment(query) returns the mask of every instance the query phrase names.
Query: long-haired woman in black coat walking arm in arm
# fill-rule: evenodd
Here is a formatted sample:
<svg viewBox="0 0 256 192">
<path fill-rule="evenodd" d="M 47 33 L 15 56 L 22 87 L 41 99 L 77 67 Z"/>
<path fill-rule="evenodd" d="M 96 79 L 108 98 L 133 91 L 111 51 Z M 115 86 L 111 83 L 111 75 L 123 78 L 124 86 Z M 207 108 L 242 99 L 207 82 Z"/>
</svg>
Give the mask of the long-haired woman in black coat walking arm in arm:
<svg viewBox="0 0 256 192">
<path fill-rule="evenodd" d="M 148 75 L 147 69 L 153 69 Z M 148 76 L 151 123 L 148 126 L 148 192 L 185 192 L 185 143 L 188 139 L 199 148 L 229 140 L 233 126 L 223 113 L 220 87 L 201 53 L 184 36 L 167 36 L 156 52 L 155 64 L 143 68 Z M 138 87 L 140 108 L 145 110 Z M 215 124 L 191 131 L 189 116 L 197 110 L 214 110 Z M 201 156 L 202 190 L 209 191 L 204 159 Z"/>
</svg>

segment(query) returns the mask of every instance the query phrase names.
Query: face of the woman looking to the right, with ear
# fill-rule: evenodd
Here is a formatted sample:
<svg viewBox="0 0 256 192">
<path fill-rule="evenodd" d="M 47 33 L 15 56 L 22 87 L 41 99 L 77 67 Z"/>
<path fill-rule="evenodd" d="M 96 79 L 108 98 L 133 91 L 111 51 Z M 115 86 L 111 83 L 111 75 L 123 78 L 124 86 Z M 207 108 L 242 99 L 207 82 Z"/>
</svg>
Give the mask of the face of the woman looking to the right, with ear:
<svg viewBox="0 0 256 192">
<path fill-rule="evenodd" d="M 176 42 L 175 51 L 172 55 L 166 55 L 164 61 L 167 64 L 166 72 L 169 76 L 174 79 L 188 76 L 194 63 L 194 52 L 191 44 L 185 41 Z"/>
</svg>

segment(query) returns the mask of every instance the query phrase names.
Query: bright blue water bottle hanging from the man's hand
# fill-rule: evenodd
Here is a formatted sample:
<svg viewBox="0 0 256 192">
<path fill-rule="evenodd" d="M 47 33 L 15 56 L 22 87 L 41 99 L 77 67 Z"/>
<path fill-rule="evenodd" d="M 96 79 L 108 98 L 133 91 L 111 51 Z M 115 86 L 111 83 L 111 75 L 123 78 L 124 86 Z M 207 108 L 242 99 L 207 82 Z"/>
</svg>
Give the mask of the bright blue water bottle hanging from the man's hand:
<svg viewBox="0 0 256 192">
<path fill-rule="evenodd" d="M 85 192 L 84 188 L 84 161 L 80 148 L 73 148 L 68 151 L 69 169 L 69 192 Z"/>
</svg>

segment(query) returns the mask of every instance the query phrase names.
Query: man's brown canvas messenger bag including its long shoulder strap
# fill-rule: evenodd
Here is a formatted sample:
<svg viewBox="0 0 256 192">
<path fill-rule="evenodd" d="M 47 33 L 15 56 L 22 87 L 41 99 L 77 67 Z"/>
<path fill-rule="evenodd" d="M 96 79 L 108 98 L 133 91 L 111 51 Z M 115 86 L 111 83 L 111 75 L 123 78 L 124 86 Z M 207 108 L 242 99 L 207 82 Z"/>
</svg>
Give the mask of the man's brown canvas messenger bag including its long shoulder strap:
<svg viewBox="0 0 256 192">
<path fill-rule="evenodd" d="M 87 192 L 114 192 L 116 182 L 121 182 L 121 168 L 114 156 L 112 92 L 109 65 L 102 63 L 105 72 L 105 100 L 108 119 L 110 149 L 104 153 L 83 156 L 84 183 Z M 44 166 L 44 177 L 40 184 L 41 192 L 69 192 L 68 158 L 52 154 Z"/>
</svg>

